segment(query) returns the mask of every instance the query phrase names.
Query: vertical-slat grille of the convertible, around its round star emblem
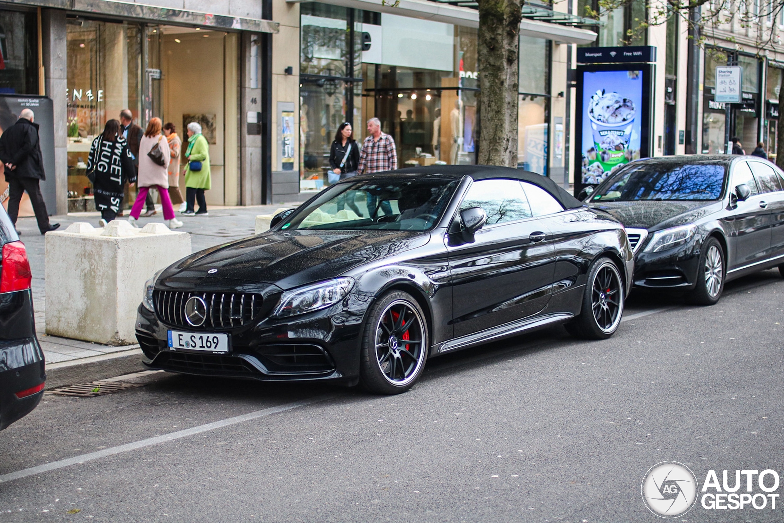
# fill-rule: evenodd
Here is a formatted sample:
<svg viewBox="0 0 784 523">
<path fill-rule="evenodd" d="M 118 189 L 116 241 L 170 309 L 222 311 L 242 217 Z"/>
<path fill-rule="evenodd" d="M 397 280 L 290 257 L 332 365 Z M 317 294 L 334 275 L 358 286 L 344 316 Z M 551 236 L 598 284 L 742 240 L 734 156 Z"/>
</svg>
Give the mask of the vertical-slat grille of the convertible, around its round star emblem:
<svg viewBox="0 0 784 523">
<path fill-rule="evenodd" d="M 249 292 L 154 291 L 153 303 L 158 319 L 169 325 L 194 329 L 185 317 L 185 303 L 198 296 L 207 304 L 207 318 L 201 329 L 241 327 L 259 318 L 262 297 Z"/>
</svg>

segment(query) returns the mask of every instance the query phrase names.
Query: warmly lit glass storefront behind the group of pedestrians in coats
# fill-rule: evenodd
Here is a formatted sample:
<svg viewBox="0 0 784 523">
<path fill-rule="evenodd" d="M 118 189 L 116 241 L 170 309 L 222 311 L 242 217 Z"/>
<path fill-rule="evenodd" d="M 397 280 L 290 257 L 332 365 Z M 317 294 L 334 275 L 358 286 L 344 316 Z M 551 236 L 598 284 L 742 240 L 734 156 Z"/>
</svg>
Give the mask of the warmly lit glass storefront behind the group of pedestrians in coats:
<svg viewBox="0 0 784 523">
<path fill-rule="evenodd" d="M 201 123 L 210 147 L 210 205 L 234 205 L 238 166 L 224 154 L 237 139 L 238 111 L 227 107 L 236 85 L 238 34 L 200 27 L 67 20 L 67 157 L 69 198 L 90 210 L 86 176 L 90 146 L 107 120 L 129 109 L 144 128 L 153 117 L 176 125 Z M 184 147 L 183 147 L 184 149 Z M 180 179 L 183 187 L 183 180 Z M 132 203 L 135 194 L 126 194 Z"/>
</svg>

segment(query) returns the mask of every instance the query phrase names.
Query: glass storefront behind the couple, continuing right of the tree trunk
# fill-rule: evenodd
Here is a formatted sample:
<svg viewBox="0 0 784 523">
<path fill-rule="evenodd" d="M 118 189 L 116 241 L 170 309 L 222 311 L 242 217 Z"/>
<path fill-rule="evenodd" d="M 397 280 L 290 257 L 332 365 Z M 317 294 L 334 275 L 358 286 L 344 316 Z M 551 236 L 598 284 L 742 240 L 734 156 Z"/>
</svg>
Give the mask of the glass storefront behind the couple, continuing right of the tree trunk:
<svg viewBox="0 0 784 523">
<path fill-rule="evenodd" d="M 301 192 L 328 185 L 329 150 L 343 122 L 351 122 L 361 143 L 365 122 L 379 118 L 394 138 L 400 168 L 476 163 L 476 29 L 309 2 L 300 9 Z M 363 63 L 366 24 L 383 29 L 372 43 L 383 50 Z M 550 42 L 521 37 L 520 45 L 518 165 L 546 175 Z"/>
</svg>

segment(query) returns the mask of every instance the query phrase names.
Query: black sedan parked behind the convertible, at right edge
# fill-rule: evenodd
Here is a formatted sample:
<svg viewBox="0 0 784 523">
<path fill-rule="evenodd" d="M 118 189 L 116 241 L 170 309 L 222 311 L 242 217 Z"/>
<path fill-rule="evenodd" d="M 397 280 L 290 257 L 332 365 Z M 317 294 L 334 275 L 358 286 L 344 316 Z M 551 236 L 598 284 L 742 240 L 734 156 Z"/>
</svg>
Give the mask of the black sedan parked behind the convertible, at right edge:
<svg viewBox="0 0 784 523">
<path fill-rule="evenodd" d="M 638 287 L 682 290 L 712 305 L 726 281 L 771 267 L 784 276 L 784 173 L 766 160 L 648 158 L 584 198 L 626 226 Z"/>
</svg>

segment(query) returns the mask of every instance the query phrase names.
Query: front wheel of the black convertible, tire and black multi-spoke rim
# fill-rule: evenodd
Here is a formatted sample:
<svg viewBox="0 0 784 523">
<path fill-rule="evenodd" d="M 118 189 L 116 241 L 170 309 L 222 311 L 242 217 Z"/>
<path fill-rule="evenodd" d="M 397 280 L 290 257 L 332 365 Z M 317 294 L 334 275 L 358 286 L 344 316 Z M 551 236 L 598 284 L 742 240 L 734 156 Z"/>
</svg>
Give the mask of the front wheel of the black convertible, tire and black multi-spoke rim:
<svg viewBox="0 0 784 523">
<path fill-rule="evenodd" d="M 422 307 L 407 292 L 387 292 L 372 304 L 365 321 L 360 383 L 375 394 L 405 392 L 422 374 L 429 348 Z"/>
</svg>

